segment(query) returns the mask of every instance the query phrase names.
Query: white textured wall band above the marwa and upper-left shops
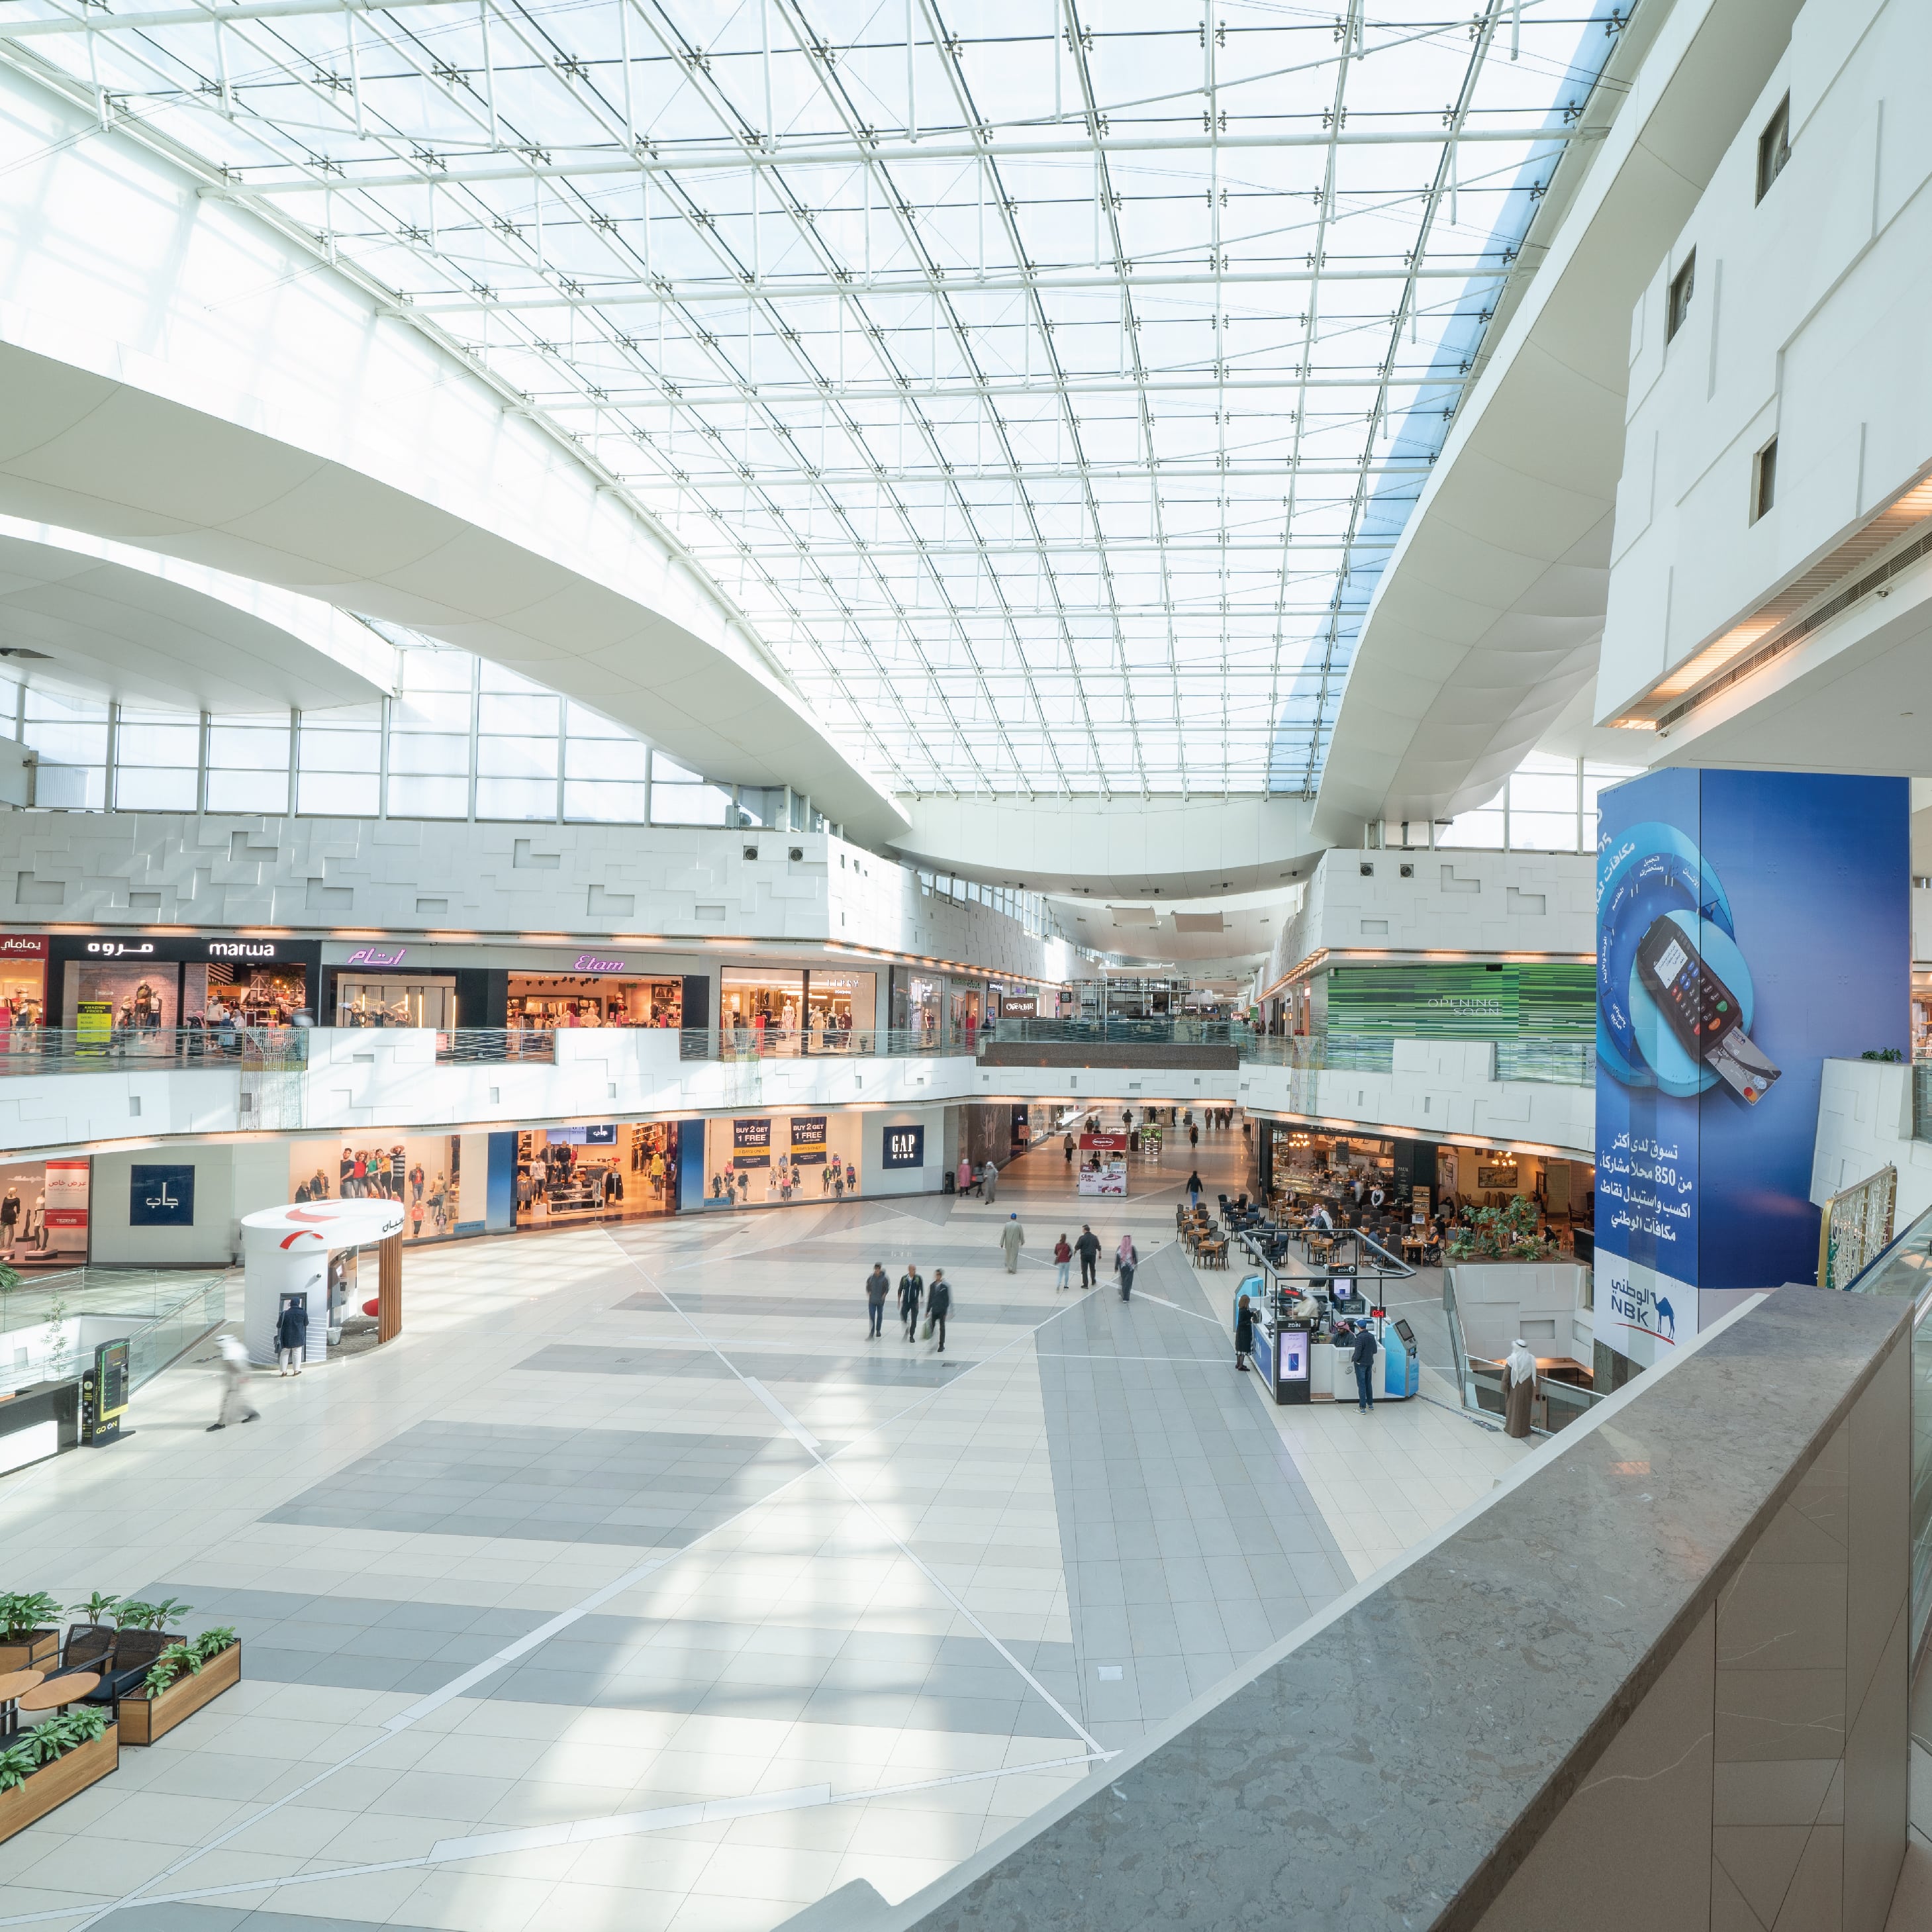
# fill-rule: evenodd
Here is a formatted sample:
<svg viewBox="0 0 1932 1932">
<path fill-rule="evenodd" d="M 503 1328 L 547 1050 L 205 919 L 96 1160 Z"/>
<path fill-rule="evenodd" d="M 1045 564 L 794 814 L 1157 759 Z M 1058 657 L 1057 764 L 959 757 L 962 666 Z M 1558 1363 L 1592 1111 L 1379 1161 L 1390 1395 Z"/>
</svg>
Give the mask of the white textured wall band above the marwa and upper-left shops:
<svg viewBox="0 0 1932 1932">
<path fill-rule="evenodd" d="M 21 811 L 0 817 L 0 923 L 755 939 L 1047 981 L 1072 968 L 1061 941 L 827 833 Z"/>
</svg>

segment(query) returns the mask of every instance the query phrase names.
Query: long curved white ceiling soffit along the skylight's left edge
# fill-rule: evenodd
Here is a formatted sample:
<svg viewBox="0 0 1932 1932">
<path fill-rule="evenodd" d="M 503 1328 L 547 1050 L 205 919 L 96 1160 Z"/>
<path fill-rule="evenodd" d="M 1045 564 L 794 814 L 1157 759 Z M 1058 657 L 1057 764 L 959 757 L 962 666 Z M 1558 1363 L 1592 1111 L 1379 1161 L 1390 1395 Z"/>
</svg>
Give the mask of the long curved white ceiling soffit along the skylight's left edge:
<svg viewBox="0 0 1932 1932">
<path fill-rule="evenodd" d="M 456 354 L 10 73 L 0 168 L 0 512 L 408 624 L 900 831 L 713 587 Z"/>
</svg>

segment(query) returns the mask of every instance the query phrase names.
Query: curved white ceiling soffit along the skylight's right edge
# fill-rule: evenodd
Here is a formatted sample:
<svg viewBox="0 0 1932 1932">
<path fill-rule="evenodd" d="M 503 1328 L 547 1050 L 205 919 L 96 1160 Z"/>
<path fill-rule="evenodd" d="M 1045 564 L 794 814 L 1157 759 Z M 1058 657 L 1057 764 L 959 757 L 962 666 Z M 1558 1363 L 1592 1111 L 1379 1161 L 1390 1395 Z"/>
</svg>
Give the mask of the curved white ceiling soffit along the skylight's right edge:
<svg viewBox="0 0 1932 1932">
<path fill-rule="evenodd" d="M 1640 6 L 1524 257 L 1542 261 L 1381 576 L 1316 831 L 1495 796 L 1596 676 L 1631 307 L 1776 68 L 1799 0 Z"/>
</svg>

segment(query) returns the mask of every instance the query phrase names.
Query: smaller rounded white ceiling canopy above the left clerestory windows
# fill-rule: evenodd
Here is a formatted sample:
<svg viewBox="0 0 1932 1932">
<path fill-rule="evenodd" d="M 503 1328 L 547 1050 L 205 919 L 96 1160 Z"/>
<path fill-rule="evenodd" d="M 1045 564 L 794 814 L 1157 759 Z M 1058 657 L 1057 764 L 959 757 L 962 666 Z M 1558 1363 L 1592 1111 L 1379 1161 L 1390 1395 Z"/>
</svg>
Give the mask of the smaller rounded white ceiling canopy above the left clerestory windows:
<svg viewBox="0 0 1932 1932">
<path fill-rule="evenodd" d="M 323 711 L 396 690 L 396 651 L 334 605 L 0 516 L 0 651 L 29 682 L 133 705 Z"/>
</svg>

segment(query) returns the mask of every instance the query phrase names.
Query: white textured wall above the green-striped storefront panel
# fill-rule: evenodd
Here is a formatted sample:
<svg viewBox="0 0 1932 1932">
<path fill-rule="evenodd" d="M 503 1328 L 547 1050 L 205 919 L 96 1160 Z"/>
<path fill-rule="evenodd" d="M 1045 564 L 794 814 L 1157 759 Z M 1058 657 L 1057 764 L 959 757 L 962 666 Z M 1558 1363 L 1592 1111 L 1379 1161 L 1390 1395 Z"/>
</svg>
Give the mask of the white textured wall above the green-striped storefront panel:
<svg viewBox="0 0 1932 1932">
<path fill-rule="evenodd" d="M 1406 877 L 1405 877 L 1406 869 Z M 1275 937 L 1262 987 L 1314 952 L 1596 956 L 1588 852 L 1327 852 Z"/>
</svg>

